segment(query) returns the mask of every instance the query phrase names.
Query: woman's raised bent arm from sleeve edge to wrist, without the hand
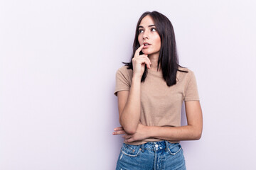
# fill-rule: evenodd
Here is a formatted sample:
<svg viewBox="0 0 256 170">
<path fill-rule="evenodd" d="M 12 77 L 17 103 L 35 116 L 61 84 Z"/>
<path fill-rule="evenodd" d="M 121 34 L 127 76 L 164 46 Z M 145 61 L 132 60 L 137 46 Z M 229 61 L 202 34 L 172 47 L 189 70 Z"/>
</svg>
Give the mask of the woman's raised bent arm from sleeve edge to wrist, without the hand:
<svg viewBox="0 0 256 170">
<path fill-rule="evenodd" d="M 130 91 L 117 92 L 119 123 L 127 134 L 134 134 L 139 124 L 141 79 L 142 77 L 132 77 Z"/>
</svg>

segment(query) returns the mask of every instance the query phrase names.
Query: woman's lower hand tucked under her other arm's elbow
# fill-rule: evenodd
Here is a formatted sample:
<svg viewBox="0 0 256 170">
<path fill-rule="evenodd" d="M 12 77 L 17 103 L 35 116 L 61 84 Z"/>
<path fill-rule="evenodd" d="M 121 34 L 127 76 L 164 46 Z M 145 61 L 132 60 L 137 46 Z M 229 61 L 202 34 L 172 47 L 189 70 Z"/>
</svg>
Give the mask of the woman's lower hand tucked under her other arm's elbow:
<svg viewBox="0 0 256 170">
<path fill-rule="evenodd" d="M 146 138 L 149 138 L 147 126 L 142 125 L 141 123 L 138 124 L 137 130 L 133 135 L 128 135 L 124 131 L 124 128 L 122 128 L 122 126 L 114 128 L 114 132 L 112 133 L 112 135 L 122 135 L 122 134 L 124 134 L 122 137 L 124 137 L 125 142 L 134 142 L 137 140 L 144 140 Z"/>
</svg>

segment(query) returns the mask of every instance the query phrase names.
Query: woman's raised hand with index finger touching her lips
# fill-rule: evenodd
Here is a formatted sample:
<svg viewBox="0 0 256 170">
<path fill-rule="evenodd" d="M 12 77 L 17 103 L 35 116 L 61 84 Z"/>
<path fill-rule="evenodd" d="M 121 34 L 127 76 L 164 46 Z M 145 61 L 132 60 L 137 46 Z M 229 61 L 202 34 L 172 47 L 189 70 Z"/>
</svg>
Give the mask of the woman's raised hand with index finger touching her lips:
<svg viewBox="0 0 256 170">
<path fill-rule="evenodd" d="M 141 45 L 134 54 L 134 57 L 132 58 L 132 66 L 133 66 L 133 77 L 142 77 L 142 74 L 145 70 L 145 64 L 148 69 L 150 69 L 151 62 L 149 60 L 149 57 L 147 55 L 139 55 L 139 52 L 142 50 L 144 45 Z"/>
</svg>

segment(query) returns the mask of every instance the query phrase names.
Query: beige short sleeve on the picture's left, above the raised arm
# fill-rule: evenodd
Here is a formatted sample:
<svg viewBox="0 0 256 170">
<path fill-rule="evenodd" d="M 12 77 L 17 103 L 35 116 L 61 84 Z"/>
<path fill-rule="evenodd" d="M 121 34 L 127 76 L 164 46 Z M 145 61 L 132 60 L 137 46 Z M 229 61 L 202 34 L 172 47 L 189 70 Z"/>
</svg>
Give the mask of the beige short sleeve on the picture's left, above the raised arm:
<svg viewBox="0 0 256 170">
<path fill-rule="evenodd" d="M 117 96 L 118 91 L 129 91 L 131 82 L 129 79 L 129 73 L 126 67 L 121 67 L 116 72 L 116 86 L 114 89 L 114 95 Z"/>
</svg>

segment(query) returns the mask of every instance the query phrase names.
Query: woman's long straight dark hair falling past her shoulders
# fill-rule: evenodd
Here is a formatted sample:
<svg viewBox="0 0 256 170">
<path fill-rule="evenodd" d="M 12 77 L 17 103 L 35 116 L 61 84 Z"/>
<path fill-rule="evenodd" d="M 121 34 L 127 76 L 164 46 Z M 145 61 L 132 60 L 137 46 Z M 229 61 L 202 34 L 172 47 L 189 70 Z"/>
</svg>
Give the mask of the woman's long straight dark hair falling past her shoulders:
<svg viewBox="0 0 256 170">
<path fill-rule="evenodd" d="M 161 38 L 161 48 L 159 52 L 159 59 L 157 62 L 157 70 L 159 70 L 159 66 L 161 66 L 161 71 L 163 73 L 164 81 L 166 81 L 167 86 L 172 86 L 176 84 L 177 71 L 179 72 L 186 72 L 186 71 L 178 69 L 178 67 L 181 67 L 181 66 L 178 64 L 178 54 L 176 49 L 174 28 L 171 24 L 171 21 L 169 21 L 169 19 L 166 16 L 164 16 L 163 14 L 157 11 L 152 11 L 152 12 L 146 11 L 142 14 L 136 26 L 132 58 L 134 57 L 136 50 L 140 46 L 138 41 L 139 24 L 141 23 L 142 19 L 147 15 L 151 16 L 151 18 L 153 19 L 154 25 L 156 26 L 156 31 L 157 33 L 159 33 L 159 36 Z M 142 54 L 143 52 L 141 51 L 139 55 L 142 55 Z M 128 66 L 127 69 L 133 70 L 132 58 L 130 62 L 122 62 L 123 64 Z M 146 75 L 147 75 L 147 67 L 145 64 L 145 70 L 144 70 L 144 73 L 142 74 L 141 82 L 145 81 Z"/>
</svg>

